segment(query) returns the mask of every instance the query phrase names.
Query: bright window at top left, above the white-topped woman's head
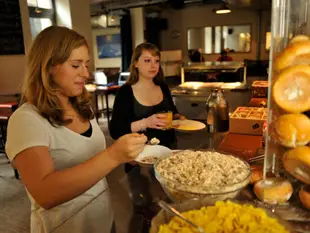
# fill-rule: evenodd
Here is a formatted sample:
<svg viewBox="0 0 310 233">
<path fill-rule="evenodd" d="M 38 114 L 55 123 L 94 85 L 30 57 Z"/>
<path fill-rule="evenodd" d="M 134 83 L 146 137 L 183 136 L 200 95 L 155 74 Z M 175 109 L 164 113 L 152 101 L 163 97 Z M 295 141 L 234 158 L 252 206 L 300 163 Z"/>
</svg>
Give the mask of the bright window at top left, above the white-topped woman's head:
<svg viewBox="0 0 310 233">
<path fill-rule="evenodd" d="M 53 0 L 27 0 L 30 28 L 34 39 L 43 29 L 55 23 Z"/>
</svg>

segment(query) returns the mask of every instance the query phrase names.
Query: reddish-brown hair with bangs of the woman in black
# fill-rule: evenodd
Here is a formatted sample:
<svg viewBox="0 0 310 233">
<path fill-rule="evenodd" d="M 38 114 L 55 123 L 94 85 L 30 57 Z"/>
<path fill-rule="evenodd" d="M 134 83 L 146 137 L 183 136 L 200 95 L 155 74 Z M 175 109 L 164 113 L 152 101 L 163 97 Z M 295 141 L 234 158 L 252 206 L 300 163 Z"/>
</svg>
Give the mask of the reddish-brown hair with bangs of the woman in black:
<svg viewBox="0 0 310 233">
<path fill-rule="evenodd" d="M 160 59 L 160 51 L 155 45 L 151 43 L 139 44 L 135 48 L 135 51 L 132 54 L 131 64 L 129 66 L 130 76 L 127 80 L 127 83 L 130 85 L 133 85 L 139 81 L 139 70 L 138 68 L 136 68 L 135 64 L 139 60 L 142 52 L 145 50 L 149 51 L 153 56 L 158 56 Z M 153 82 L 156 85 L 159 85 L 164 82 L 164 73 L 163 73 L 163 69 L 161 68 L 161 66 L 159 66 L 159 71 L 157 75 L 154 77 Z"/>
</svg>

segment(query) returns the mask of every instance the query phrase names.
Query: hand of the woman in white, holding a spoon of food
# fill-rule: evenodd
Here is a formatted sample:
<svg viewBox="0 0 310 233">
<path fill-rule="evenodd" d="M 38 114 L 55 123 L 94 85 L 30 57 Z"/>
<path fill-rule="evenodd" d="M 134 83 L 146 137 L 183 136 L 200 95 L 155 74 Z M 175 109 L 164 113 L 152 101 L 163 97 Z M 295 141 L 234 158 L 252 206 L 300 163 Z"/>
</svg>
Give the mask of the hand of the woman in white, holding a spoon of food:
<svg viewBox="0 0 310 233">
<path fill-rule="evenodd" d="M 112 159 L 118 163 L 133 161 L 144 149 L 147 137 L 131 133 L 117 139 L 110 147 Z"/>
</svg>

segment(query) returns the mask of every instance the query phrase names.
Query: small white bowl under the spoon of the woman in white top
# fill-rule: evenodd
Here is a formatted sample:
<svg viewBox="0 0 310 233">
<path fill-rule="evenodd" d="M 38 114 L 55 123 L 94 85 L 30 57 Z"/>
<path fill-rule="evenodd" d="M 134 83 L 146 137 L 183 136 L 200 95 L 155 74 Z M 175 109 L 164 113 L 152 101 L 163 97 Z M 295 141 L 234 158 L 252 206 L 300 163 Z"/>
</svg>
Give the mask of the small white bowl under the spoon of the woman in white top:
<svg viewBox="0 0 310 233">
<path fill-rule="evenodd" d="M 161 145 L 146 145 L 144 150 L 138 155 L 135 161 L 141 167 L 152 167 L 153 164 L 156 162 L 156 158 L 160 158 L 162 156 L 166 156 L 172 154 L 172 150 L 168 147 L 161 146 Z M 147 157 L 156 157 L 153 161 L 144 161 Z"/>
</svg>

